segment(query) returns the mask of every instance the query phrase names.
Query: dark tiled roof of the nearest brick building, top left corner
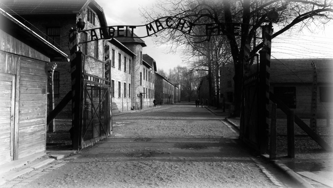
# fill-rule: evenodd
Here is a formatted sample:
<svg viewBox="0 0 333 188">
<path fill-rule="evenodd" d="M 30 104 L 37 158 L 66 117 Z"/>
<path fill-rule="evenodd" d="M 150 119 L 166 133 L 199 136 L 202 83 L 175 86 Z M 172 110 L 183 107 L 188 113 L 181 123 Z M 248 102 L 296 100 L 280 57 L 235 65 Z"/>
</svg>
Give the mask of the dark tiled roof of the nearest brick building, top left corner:
<svg viewBox="0 0 333 188">
<path fill-rule="evenodd" d="M 9 14 L 79 13 L 88 0 L 1 0 Z M 13 12 L 13 11 L 14 12 Z"/>
</svg>

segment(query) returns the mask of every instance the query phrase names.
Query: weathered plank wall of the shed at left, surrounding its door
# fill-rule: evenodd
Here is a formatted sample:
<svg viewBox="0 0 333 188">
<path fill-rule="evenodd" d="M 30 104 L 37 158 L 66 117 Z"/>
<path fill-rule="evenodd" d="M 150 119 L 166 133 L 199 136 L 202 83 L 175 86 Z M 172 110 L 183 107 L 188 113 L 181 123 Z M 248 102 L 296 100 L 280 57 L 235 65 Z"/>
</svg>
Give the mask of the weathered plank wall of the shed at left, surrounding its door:
<svg viewBox="0 0 333 188">
<path fill-rule="evenodd" d="M 47 56 L 29 44 L 0 30 L 0 73 L 15 77 L 15 119 L 11 120 L 15 121 L 11 129 L 14 136 L 9 138 L 14 138 L 10 149 L 14 151 L 14 160 L 46 151 L 49 61 Z"/>
</svg>

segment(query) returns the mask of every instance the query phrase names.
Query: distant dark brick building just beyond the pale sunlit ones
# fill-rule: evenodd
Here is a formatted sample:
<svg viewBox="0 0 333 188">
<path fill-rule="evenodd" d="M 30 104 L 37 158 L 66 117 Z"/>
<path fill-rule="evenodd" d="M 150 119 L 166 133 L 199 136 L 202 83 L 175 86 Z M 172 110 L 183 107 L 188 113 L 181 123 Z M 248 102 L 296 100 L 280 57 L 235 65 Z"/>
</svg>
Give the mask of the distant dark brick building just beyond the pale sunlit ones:
<svg viewBox="0 0 333 188">
<path fill-rule="evenodd" d="M 165 77 L 155 72 L 155 99 L 157 104 L 173 104 L 174 85 Z"/>
</svg>

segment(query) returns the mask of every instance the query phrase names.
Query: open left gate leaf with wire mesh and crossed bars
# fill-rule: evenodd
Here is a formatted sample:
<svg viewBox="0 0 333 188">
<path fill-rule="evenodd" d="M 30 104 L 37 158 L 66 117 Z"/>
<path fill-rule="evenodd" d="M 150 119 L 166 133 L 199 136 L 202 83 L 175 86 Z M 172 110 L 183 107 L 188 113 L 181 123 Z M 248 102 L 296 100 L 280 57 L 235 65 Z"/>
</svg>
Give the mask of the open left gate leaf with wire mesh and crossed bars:
<svg viewBox="0 0 333 188">
<path fill-rule="evenodd" d="M 84 56 L 81 147 L 110 134 L 110 62 Z"/>
</svg>

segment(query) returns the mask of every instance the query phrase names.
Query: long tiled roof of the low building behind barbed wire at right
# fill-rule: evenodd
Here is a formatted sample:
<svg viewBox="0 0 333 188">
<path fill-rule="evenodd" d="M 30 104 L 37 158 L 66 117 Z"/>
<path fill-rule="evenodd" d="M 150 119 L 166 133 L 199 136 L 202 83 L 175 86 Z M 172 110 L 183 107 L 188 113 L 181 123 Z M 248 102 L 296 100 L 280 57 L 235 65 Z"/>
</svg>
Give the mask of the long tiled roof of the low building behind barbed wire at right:
<svg viewBox="0 0 333 188">
<path fill-rule="evenodd" d="M 314 62 L 318 83 L 333 82 L 333 59 L 274 59 L 271 60 L 271 83 L 312 83 Z"/>
</svg>

